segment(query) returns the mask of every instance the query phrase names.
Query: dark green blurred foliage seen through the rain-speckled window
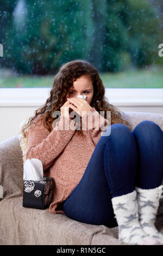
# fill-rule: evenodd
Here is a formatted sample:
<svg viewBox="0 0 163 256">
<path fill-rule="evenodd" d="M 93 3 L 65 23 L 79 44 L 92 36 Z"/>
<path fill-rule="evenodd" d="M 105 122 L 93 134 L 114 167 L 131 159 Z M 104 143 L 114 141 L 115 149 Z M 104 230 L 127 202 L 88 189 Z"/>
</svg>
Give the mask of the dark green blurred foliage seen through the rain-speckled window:
<svg viewBox="0 0 163 256">
<path fill-rule="evenodd" d="M 54 74 L 74 59 L 99 72 L 163 64 L 161 20 L 147 1 L 0 0 L 0 17 L 0 68 L 15 74 Z"/>
</svg>

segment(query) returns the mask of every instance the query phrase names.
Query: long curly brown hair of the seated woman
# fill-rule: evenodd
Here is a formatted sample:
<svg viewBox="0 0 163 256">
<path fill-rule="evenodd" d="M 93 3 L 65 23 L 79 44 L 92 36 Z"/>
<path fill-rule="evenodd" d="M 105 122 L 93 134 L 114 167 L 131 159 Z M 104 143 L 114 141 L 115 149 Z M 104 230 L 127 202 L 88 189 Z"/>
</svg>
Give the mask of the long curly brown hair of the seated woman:
<svg viewBox="0 0 163 256">
<path fill-rule="evenodd" d="M 43 124 L 48 131 L 53 130 L 52 123 L 57 118 L 52 117 L 53 112 L 60 111 L 60 107 L 64 105 L 65 101 L 67 100 L 66 95 L 71 92 L 73 82 L 81 76 L 89 76 L 93 84 L 94 92 L 90 106 L 95 107 L 98 113 L 100 111 L 104 111 L 105 119 L 107 118 L 106 111 L 110 111 L 111 124 L 124 124 L 130 129 L 128 121 L 122 118 L 121 113 L 123 112 L 120 113 L 118 108 L 111 105 L 104 96 L 105 88 L 101 78 L 99 77 L 98 71 L 86 60 L 78 59 L 65 63 L 60 67 L 59 71 L 54 76 L 53 87 L 45 104 L 36 109 L 34 116 L 30 117 L 28 123 L 22 126 L 21 132 L 24 138 L 27 137 L 28 127 L 34 123 L 34 120 L 38 115 L 41 115 L 40 120 L 43 121 Z M 77 130 L 77 133 L 83 136 L 82 129 Z"/>
</svg>

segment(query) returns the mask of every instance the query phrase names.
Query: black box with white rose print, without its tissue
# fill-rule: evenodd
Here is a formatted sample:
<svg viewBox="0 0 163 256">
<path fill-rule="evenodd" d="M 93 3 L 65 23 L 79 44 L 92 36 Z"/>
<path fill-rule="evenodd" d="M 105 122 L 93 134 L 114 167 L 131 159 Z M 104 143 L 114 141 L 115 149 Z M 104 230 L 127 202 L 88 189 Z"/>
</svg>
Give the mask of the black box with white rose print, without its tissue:
<svg viewBox="0 0 163 256">
<path fill-rule="evenodd" d="M 23 180 L 23 206 L 46 209 L 53 198 L 53 178 L 43 177 L 40 181 Z"/>
</svg>

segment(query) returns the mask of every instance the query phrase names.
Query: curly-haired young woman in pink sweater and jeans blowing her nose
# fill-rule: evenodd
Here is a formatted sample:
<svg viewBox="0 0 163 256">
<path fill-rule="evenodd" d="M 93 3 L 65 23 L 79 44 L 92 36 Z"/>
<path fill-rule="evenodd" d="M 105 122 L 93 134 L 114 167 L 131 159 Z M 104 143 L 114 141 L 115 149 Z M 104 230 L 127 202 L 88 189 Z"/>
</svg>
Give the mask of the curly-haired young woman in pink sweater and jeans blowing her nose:
<svg viewBox="0 0 163 256">
<path fill-rule="evenodd" d="M 41 160 L 44 176 L 54 178 L 49 212 L 110 228 L 118 225 L 119 239 L 126 243 L 163 243 L 154 226 L 163 179 L 163 132 L 148 120 L 131 132 L 104 94 L 89 62 L 62 65 L 45 105 L 22 127 L 26 160 Z"/>
</svg>

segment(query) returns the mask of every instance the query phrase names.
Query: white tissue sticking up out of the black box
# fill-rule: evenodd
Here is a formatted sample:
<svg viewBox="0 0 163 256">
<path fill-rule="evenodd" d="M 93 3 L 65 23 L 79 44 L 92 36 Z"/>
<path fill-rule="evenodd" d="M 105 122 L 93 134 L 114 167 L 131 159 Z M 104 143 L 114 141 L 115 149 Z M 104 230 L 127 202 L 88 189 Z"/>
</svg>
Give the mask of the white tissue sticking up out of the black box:
<svg viewBox="0 0 163 256">
<path fill-rule="evenodd" d="M 27 159 L 23 166 L 23 180 L 40 181 L 42 178 L 42 162 L 39 159 Z"/>
</svg>

